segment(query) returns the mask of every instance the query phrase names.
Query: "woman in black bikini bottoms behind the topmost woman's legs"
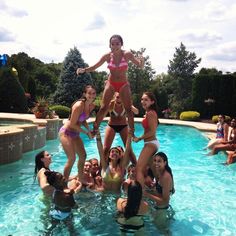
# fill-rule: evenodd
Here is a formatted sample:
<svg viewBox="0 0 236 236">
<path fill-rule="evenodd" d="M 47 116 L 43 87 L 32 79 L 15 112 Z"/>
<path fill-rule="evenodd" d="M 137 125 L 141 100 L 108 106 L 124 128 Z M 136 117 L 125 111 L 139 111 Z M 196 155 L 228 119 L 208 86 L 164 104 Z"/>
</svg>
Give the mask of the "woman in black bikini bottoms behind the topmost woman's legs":
<svg viewBox="0 0 236 236">
<path fill-rule="evenodd" d="M 132 105 L 131 109 L 134 114 L 138 114 L 138 109 L 136 107 Z M 115 93 L 114 100 L 111 101 L 110 103 L 109 111 L 110 111 L 110 119 L 108 121 L 104 137 L 104 156 L 106 159 L 108 157 L 108 152 L 111 148 L 116 133 L 120 134 L 124 146 L 128 137 L 128 124 L 127 124 L 126 112 L 121 102 L 119 93 L 117 92 Z M 133 164 L 136 164 L 137 161 L 132 148 L 130 152 L 131 152 L 129 155 L 130 161 Z"/>
</svg>

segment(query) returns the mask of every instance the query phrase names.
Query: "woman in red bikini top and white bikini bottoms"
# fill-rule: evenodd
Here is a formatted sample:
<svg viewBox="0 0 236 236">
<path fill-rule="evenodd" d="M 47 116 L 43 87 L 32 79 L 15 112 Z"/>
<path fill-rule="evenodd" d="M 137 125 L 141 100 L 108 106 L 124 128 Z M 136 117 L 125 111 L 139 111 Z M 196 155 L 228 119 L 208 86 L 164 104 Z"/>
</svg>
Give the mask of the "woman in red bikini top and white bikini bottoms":
<svg viewBox="0 0 236 236">
<path fill-rule="evenodd" d="M 159 121 L 157 117 L 157 102 L 154 94 L 151 92 L 144 92 L 141 98 L 141 103 L 146 111 L 142 121 L 144 134 L 140 137 L 134 137 L 133 141 L 139 142 L 140 140 L 144 140 L 144 147 L 139 155 L 136 166 L 137 180 L 142 187 L 144 187 L 144 176 L 147 170 L 148 162 L 159 148 L 159 141 L 156 137 Z"/>
</svg>

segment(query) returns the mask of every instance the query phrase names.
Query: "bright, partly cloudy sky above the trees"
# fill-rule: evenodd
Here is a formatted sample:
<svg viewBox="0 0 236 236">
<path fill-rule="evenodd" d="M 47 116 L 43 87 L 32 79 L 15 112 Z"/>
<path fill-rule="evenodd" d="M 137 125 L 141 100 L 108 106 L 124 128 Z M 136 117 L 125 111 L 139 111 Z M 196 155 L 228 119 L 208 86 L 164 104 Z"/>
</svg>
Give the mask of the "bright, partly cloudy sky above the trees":
<svg viewBox="0 0 236 236">
<path fill-rule="evenodd" d="M 157 74 L 181 42 L 202 59 L 196 71 L 236 71 L 235 0 L 0 0 L 0 22 L 0 55 L 58 63 L 76 47 L 93 65 L 119 34 L 124 50 L 146 49 Z"/>
</svg>

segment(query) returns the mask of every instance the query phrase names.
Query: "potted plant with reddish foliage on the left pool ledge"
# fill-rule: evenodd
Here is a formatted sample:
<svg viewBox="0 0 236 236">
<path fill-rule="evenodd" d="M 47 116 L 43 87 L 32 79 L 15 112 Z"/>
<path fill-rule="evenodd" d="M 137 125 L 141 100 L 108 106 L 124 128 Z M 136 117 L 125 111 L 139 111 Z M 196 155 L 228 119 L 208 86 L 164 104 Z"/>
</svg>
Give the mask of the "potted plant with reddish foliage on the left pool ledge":
<svg viewBox="0 0 236 236">
<path fill-rule="evenodd" d="M 35 117 L 39 119 L 53 118 L 47 99 L 45 97 L 38 97 L 36 100 L 37 102 L 32 110 Z"/>
</svg>

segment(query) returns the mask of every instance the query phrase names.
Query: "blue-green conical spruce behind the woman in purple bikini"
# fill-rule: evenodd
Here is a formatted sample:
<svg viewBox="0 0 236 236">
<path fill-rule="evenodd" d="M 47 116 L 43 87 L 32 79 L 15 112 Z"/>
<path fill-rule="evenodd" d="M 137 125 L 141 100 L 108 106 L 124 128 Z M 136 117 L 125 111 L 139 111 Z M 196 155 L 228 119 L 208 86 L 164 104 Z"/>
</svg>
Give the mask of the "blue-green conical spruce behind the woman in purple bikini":
<svg viewBox="0 0 236 236">
<path fill-rule="evenodd" d="M 82 96 L 84 87 L 92 84 L 90 74 L 76 75 L 77 68 L 86 66 L 87 64 L 82 59 L 78 49 L 76 47 L 70 49 L 64 59 L 57 90 L 53 96 L 55 104 L 70 107 L 74 101 Z"/>
</svg>

